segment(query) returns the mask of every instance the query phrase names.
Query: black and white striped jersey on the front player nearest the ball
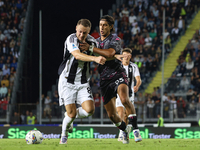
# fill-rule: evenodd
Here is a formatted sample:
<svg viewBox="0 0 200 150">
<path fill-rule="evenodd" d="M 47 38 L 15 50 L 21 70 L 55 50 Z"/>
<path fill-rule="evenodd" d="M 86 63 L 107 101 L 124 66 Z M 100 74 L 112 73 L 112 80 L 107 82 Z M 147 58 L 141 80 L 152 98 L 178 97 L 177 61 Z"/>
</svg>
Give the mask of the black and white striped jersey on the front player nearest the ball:
<svg viewBox="0 0 200 150">
<path fill-rule="evenodd" d="M 90 45 L 93 44 L 96 47 L 96 40 L 88 35 L 86 42 Z M 64 75 L 67 82 L 74 84 L 76 83 L 87 83 L 89 81 L 89 62 L 84 62 L 75 59 L 71 52 L 79 50 L 79 40 L 76 37 L 76 33 L 69 35 L 64 44 L 64 56 L 63 62 L 59 66 L 58 74 Z M 92 55 L 90 51 L 83 52 L 87 55 Z"/>
</svg>

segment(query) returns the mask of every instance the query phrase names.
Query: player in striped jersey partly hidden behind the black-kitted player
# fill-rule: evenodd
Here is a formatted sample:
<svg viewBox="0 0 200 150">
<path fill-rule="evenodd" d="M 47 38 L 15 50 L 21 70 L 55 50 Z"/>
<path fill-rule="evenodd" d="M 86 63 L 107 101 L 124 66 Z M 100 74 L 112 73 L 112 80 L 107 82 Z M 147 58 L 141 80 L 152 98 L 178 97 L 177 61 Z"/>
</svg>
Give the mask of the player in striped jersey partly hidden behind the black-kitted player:
<svg viewBox="0 0 200 150">
<path fill-rule="evenodd" d="M 130 48 L 125 48 L 122 50 L 122 55 L 123 57 L 123 67 L 126 70 L 126 74 L 128 77 L 128 87 L 129 87 L 129 99 L 131 103 L 134 105 L 134 93 L 136 93 L 142 83 L 141 78 L 140 78 L 140 72 L 136 64 L 131 62 L 131 57 L 132 57 L 132 50 Z M 136 79 L 136 85 L 134 86 L 134 78 Z M 128 118 L 125 113 L 124 106 L 119 98 L 117 96 L 116 99 L 116 107 L 117 107 L 117 113 L 121 117 L 121 119 L 124 120 L 126 125 L 128 125 Z M 123 132 L 120 130 L 119 132 L 119 137 L 118 141 L 123 141 Z"/>
</svg>

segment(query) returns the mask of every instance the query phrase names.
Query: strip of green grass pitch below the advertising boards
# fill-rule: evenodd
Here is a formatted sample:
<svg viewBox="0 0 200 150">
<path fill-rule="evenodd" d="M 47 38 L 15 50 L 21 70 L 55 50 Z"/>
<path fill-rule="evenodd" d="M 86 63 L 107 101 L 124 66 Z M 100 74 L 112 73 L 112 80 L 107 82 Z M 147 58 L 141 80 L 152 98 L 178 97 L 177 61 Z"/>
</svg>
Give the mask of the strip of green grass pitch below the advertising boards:
<svg viewBox="0 0 200 150">
<path fill-rule="evenodd" d="M 117 139 L 69 139 L 60 145 L 59 139 L 45 139 L 42 144 L 27 145 L 25 139 L 0 139 L 0 150 L 200 150 L 200 139 L 143 139 L 129 144 Z"/>
</svg>

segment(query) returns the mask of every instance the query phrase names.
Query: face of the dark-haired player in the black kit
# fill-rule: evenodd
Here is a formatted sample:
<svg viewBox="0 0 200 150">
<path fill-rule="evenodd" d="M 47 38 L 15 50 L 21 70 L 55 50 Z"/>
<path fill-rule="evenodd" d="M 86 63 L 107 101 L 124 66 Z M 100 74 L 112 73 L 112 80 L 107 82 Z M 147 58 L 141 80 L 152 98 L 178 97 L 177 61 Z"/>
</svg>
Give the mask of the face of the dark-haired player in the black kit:
<svg viewBox="0 0 200 150">
<path fill-rule="evenodd" d="M 100 30 L 101 36 L 107 37 L 110 34 L 110 30 L 112 28 L 113 26 L 110 26 L 106 20 L 100 20 L 99 30 Z"/>
</svg>

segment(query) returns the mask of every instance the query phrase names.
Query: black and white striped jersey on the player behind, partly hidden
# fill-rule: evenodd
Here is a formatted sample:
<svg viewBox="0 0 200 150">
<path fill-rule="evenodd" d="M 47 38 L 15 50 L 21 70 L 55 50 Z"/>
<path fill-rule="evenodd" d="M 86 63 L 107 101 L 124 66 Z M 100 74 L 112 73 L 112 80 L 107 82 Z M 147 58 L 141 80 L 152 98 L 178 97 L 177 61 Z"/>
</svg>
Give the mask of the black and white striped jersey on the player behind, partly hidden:
<svg viewBox="0 0 200 150">
<path fill-rule="evenodd" d="M 140 72 L 138 66 L 133 62 L 130 62 L 128 66 L 123 65 L 123 67 L 125 68 L 128 77 L 129 97 L 131 97 L 132 93 L 134 93 L 134 78 L 140 76 Z"/>
</svg>

